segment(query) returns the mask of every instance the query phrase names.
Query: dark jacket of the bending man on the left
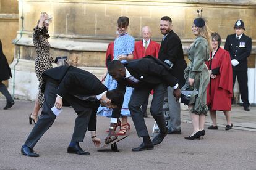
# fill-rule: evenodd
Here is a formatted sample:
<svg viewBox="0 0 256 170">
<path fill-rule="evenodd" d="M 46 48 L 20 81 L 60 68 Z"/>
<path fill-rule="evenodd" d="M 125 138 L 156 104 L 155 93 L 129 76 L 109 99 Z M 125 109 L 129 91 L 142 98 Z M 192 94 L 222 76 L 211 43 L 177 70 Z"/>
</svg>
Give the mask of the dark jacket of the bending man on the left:
<svg viewBox="0 0 256 170">
<path fill-rule="evenodd" d="M 75 97 L 87 97 L 91 95 L 98 95 L 108 91 L 107 87 L 100 82 L 100 80 L 89 73 L 73 66 L 60 66 L 51 68 L 43 72 L 42 91 L 45 90 L 46 81 L 51 81 L 59 85 L 56 93 L 63 97 L 63 101 L 71 103 L 75 111 L 83 111 L 84 108 L 92 108 L 93 112 L 88 124 L 89 130 L 96 129 L 96 111 L 100 105 L 100 101 L 89 102 L 80 100 Z M 74 104 L 77 103 L 78 105 Z"/>
</svg>

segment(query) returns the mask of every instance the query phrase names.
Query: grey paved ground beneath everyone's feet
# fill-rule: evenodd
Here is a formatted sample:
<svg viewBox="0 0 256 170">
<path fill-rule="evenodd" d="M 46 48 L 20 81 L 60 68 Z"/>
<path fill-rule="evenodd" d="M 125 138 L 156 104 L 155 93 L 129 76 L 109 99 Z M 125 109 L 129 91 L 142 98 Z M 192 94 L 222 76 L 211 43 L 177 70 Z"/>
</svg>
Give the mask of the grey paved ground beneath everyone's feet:
<svg viewBox="0 0 256 170">
<path fill-rule="evenodd" d="M 256 133 L 255 107 L 232 110 L 234 129 L 225 131 L 223 113 L 218 113 L 218 131 L 205 126 L 205 139 L 185 140 L 192 132 L 187 110 L 182 110 L 182 134 L 168 135 L 153 151 L 132 152 L 142 139 L 137 137 L 132 119 L 129 137 L 119 142 L 120 152 L 97 152 L 87 132 L 80 146 L 90 156 L 67 154 L 76 117 L 74 110 L 64 107 L 53 126 L 35 146 L 39 158 L 21 155 L 20 148 L 33 128 L 28 116 L 33 102 L 15 100 L 9 110 L 2 110 L 6 101 L 0 99 L 0 169 L 255 169 Z M 210 123 L 210 116 L 207 118 Z M 154 120 L 145 118 L 151 132 Z M 221 127 L 221 124 L 223 126 Z M 104 140 L 109 118 L 98 117 L 97 136 Z M 242 129 L 242 130 L 241 130 Z"/>
</svg>

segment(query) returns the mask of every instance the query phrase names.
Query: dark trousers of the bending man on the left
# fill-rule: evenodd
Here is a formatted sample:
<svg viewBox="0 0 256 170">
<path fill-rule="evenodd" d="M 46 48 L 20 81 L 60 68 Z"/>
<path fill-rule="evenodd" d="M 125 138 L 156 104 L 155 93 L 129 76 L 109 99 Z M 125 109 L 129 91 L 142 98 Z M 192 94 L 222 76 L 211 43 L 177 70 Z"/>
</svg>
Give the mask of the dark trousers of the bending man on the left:
<svg viewBox="0 0 256 170">
<path fill-rule="evenodd" d="M 56 100 L 56 89 L 58 85 L 48 81 L 45 87 L 45 102 L 43 104 L 43 110 L 41 116 L 38 119 L 37 123 L 30 132 L 25 145 L 30 148 L 35 147 L 38 140 L 45 134 L 45 132 L 51 127 L 56 115 L 51 111 L 51 108 L 54 106 Z M 69 97 L 65 97 L 67 102 L 74 108 L 77 113 L 77 118 L 75 119 L 74 133 L 71 139 L 71 142 L 83 142 L 85 137 L 85 132 L 88 127 L 88 122 L 90 120 L 90 115 L 92 114 L 92 108 L 84 108 L 79 103 L 72 102 Z M 83 109 L 81 109 L 83 108 Z"/>
</svg>

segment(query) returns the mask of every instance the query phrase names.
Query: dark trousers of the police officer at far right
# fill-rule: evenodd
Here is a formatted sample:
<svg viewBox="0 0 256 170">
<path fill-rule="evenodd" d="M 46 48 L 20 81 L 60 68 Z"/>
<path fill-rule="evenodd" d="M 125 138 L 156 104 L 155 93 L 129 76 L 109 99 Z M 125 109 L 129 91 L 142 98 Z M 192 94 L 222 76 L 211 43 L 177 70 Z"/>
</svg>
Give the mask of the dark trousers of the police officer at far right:
<svg viewBox="0 0 256 170">
<path fill-rule="evenodd" d="M 239 84 L 239 91 L 241 95 L 241 99 L 243 102 L 244 107 L 249 107 L 250 103 L 248 100 L 248 75 L 247 71 L 234 71 L 233 70 L 233 89 L 234 89 L 234 84 L 236 82 L 236 76 L 237 76 L 237 81 Z"/>
</svg>

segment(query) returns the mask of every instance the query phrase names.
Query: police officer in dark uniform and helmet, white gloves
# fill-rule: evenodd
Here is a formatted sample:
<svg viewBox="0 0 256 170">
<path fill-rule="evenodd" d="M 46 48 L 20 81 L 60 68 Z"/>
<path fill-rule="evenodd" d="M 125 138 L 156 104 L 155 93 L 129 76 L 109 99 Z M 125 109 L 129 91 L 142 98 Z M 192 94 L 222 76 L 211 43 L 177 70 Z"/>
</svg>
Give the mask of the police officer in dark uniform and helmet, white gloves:
<svg viewBox="0 0 256 170">
<path fill-rule="evenodd" d="M 237 76 L 244 110 L 250 111 L 247 84 L 247 57 L 250 56 L 250 52 L 252 51 L 252 39 L 244 34 L 245 27 L 242 20 L 236 21 L 234 30 L 236 33 L 227 36 L 224 49 L 229 51 L 231 56 L 231 64 L 233 68 L 233 89 Z"/>
</svg>

